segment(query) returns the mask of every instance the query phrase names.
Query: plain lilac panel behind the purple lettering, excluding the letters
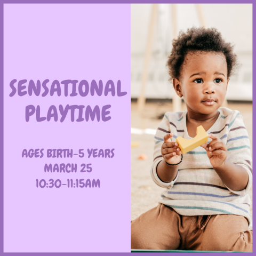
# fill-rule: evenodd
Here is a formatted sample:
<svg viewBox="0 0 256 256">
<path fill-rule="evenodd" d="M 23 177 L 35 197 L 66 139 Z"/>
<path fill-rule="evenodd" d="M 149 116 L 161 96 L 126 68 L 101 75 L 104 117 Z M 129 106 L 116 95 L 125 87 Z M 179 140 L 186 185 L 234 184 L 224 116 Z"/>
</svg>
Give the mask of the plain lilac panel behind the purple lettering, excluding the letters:
<svg viewBox="0 0 256 256">
<path fill-rule="evenodd" d="M 130 22 L 130 4 L 4 4 L 4 252 L 130 252 Z M 11 98 L 12 79 L 121 80 L 127 94 Z M 110 104 L 111 120 L 27 123 L 30 104 L 43 116 L 51 105 Z M 22 158 L 25 148 L 115 148 L 115 156 Z M 45 173 L 45 163 L 93 171 Z M 100 188 L 36 188 L 36 179 L 88 178 Z"/>
</svg>

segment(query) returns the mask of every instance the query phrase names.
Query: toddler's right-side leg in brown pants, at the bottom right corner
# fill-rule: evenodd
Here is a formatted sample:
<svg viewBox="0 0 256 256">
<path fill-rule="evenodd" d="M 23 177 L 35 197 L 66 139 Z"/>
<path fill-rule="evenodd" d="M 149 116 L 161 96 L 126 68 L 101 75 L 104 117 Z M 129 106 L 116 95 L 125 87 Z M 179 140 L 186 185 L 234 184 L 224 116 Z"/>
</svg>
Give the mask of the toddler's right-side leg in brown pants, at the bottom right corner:
<svg viewBox="0 0 256 256">
<path fill-rule="evenodd" d="M 188 238 L 189 250 L 252 252 L 252 230 L 243 216 L 212 215 L 203 230 L 195 231 Z"/>
</svg>

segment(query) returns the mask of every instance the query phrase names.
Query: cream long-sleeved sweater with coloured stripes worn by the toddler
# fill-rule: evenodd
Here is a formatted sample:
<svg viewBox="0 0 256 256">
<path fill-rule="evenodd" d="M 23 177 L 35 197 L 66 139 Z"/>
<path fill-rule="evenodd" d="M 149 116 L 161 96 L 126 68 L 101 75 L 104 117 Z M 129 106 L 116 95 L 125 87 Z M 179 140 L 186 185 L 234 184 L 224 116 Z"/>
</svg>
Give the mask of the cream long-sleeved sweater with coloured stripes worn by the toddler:
<svg viewBox="0 0 256 256">
<path fill-rule="evenodd" d="M 206 131 L 212 133 L 226 143 L 227 159 L 244 167 L 249 175 L 247 187 L 241 191 L 233 191 L 222 182 L 214 171 L 206 150 L 197 147 L 183 155 L 178 165 L 175 179 L 169 183 L 161 181 L 157 176 L 157 165 L 163 160 L 161 147 L 166 133 L 172 132 L 172 141 L 178 136 L 191 139 L 187 132 L 187 111 L 166 113 L 154 137 L 154 163 L 151 177 L 160 187 L 166 188 L 162 193 L 163 203 L 172 207 L 181 215 L 214 215 L 236 214 L 247 218 L 250 223 L 250 196 L 248 190 L 252 186 L 252 158 L 250 140 L 245 129 L 242 115 L 237 110 L 219 108 L 220 115 L 213 126 Z M 208 139 L 210 142 L 211 139 Z"/>
</svg>

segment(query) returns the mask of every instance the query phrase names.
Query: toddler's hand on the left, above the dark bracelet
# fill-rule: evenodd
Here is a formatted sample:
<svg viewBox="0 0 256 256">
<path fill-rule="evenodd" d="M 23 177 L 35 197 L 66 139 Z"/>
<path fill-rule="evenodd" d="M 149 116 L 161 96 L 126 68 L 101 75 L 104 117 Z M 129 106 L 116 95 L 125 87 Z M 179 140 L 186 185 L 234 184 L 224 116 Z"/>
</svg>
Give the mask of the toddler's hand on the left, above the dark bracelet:
<svg viewBox="0 0 256 256">
<path fill-rule="evenodd" d="M 164 136 L 164 143 L 161 148 L 161 154 L 164 160 L 169 164 L 178 164 L 181 159 L 181 151 L 177 142 L 172 142 L 173 133 Z"/>
</svg>

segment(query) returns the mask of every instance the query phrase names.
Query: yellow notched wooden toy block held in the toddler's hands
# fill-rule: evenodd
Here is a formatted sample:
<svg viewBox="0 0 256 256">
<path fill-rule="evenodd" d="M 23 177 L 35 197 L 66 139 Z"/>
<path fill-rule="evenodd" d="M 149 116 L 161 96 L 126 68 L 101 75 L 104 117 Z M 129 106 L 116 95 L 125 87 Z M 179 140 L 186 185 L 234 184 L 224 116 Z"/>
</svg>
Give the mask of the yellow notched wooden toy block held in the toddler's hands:
<svg viewBox="0 0 256 256">
<path fill-rule="evenodd" d="M 208 140 L 208 134 L 206 133 L 202 125 L 196 128 L 195 138 L 191 140 L 186 140 L 180 136 L 176 138 L 176 141 L 179 144 L 179 148 L 182 154 L 185 154 L 188 151 L 203 145 L 204 143 L 207 142 L 207 140 Z"/>
</svg>

